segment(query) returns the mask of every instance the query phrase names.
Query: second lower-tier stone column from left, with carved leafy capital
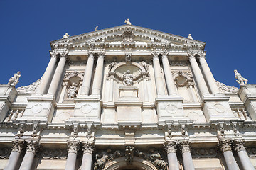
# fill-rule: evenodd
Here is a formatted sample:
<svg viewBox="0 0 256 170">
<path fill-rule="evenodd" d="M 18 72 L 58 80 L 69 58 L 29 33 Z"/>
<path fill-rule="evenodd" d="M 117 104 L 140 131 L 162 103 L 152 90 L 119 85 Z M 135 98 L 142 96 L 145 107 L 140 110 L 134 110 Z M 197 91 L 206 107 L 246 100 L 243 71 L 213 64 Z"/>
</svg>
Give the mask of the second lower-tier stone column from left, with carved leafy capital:
<svg viewBox="0 0 256 170">
<path fill-rule="evenodd" d="M 19 170 L 31 170 L 33 159 L 38 149 L 38 141 L 31 140 L 26 143 L 27 143 L 26 154 L 23 157 Z"/>
</svg>

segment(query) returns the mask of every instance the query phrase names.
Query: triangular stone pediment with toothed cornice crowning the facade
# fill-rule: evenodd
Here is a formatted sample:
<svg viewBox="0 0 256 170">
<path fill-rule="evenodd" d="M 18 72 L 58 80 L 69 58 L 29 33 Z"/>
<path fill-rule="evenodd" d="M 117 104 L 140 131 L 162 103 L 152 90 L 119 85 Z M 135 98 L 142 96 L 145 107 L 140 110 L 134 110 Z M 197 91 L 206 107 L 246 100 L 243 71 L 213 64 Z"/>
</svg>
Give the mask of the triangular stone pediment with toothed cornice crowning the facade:
<svg viewBox="0 0 256 170">
<path fill-rule="evenodd" d="M 134 47 L 149 47 L 150 44 L 156 43 L 159 45 L 169 45 L 169 47 L 176 49 L 182 48 L 184 45 L 188 44 L 201 45 L 201 47 L 204 48 L 206 44 L 205 42 L 184 38 L 170 33 L 164 33 L 158 30 L 152 30 L 134 25 L 122 25 L 93 31 L 90 33 L 74 35 L 60 40 L 54 40 L 50 42 L 50 45 L 52 48 L 55 48 L 56 46 L 61 47 L 63 45 L 68 45 L 68 47 L 86 49 L 91 43 L 95 43 L 97 45 L 105 43 L 105 47 L 106 45 L 107 47 L 118 47 L 119 45 L 122 45 L 122 36 L 124 30 L 127 28 L 132 30 Z"/>
</svg>

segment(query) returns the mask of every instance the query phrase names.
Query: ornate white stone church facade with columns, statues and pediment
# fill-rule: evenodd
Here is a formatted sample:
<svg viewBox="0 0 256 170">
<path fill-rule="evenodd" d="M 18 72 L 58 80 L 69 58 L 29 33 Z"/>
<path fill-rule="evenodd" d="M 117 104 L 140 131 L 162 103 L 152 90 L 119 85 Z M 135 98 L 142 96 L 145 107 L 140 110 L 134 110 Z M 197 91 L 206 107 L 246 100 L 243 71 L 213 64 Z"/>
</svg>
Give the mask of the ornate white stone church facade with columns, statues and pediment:
<svg viewBox="0 0 256 170">
<path fill-rule="evenodd" d="M 205 42 L 126 25 L 50 42 L 0 85 L 0 169 L 255 169 L 256 85 L 215 81 Z"/>
</svg>

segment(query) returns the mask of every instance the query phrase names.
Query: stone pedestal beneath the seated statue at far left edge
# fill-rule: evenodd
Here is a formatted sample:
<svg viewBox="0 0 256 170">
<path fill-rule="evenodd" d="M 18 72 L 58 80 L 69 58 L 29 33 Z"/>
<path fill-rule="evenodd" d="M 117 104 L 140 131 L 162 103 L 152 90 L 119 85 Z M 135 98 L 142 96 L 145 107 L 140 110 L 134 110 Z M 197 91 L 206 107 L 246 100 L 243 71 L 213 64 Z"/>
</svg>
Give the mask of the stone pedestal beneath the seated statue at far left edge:
<svg viewBox="0 0 256 170">
<path fill-rule="evenodd" d="M 0 122 L 6 117 L 17 94 L 15 86 L 0 85 Z"/>
</svg>

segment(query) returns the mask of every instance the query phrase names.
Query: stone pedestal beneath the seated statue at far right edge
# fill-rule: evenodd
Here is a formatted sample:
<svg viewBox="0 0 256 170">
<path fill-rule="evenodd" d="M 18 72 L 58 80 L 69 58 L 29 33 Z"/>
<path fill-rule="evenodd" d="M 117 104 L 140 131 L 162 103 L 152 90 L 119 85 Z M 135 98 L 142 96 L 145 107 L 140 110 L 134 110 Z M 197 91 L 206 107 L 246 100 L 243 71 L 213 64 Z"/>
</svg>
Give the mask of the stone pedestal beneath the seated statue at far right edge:
<svg viewBox="0 0 256 170">
<path fill-rule="evenodd" d="M 246 111 L 250 114 L 252 120 L 256 120 L 256 84 L 248 84 L 240 87 L 238 91 Z"/>
</svg>

